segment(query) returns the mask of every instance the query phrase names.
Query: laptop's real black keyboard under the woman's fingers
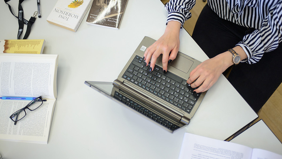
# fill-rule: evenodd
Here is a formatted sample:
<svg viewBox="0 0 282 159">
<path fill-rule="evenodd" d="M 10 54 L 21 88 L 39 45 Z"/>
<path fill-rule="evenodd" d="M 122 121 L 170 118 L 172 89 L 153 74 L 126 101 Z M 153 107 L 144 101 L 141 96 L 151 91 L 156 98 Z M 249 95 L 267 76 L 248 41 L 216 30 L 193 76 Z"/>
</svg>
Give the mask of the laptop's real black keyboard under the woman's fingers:
<svg viewBox="0 0 282 159">
<path fill-rule="evenodd" d="M 170 72 L 164 73 L 162 67 L 155 65 L 154 70 L 149 70 L 150 63 L 145 66 L 145 60 L 136 55 L 122 78 L 190 113 L 201 93 L 194 92 L 187 80 Z"/>
</svg>

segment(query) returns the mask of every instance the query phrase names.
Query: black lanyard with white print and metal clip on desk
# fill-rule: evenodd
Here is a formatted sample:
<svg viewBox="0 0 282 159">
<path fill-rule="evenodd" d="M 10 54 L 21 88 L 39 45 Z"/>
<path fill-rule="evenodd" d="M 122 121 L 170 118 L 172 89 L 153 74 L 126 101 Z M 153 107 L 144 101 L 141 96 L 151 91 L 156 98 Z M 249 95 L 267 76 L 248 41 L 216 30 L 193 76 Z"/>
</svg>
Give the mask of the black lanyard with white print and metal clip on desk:
<svg viewBox="0 0 282 159">
<path fill-rule="evenodd" d="M 8 4 L 7 2 L 9 2 L 10 0 L 4 0 L 4 1 L 5 1 L 6 4 Z M 26 39 L 28 37 L 30 30 L 31 30 L 31 26 L 34 23 L 34 21 L 36 20 L 36 15 L 37 15 L 37 11 L 35 11 L 33 16 L 30 17 L 29 21 L 24 19 L 24 9 L 21 6 L 21 3 L 23 1 L 24 0 L 19 0 L 19 14 L 18 14 L 18 16 L 14 15 L 14 13 L 12 11 L 12 7 L 8 4 L 11 13 L 13 14 L 13 16 L 15 16 L 18 19 L 18 22 L 19 22 L 19 30 L 18 30 L 17 39 L 20 39 L 21 33 L 24 30 L 24 24 L 27 24 L 27 28 L 26 28 L 26 34 L 24 35 L 23 39 Z"/>
</svg>

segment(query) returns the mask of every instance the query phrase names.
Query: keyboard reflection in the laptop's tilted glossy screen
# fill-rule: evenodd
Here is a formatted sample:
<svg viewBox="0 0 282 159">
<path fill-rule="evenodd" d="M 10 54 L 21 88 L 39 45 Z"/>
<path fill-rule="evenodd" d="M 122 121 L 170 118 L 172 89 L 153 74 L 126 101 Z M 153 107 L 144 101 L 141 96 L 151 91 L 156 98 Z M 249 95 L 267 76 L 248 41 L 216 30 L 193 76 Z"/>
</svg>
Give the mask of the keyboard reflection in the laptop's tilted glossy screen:
<svg viewBox="0 0 282 159">
<path fill-rule="evenodd" d="M 117 100 L 125 103 L 126 105 L 130 106 L 131 108 L 135 109 L 136 111 L 142 113 L 143 115 L 149 117 L 152 120 L 155 120 L 157 123 L 163 125 L 164 127 L 167 127 L 168 129 L 174 131 L 177 128 L 179 128 L 179 126 L 173 124 L 172 122 L 169 122 L 167 120 L 165 120 L 163 117 L 160 117 L 159 115 L 153 113 L 152 111 L 146 109 L 145 107 L 137 104 L 136 102 L 130 100 L 129 98 L 123 96 L 122 94 L 118 93 L 117 91 L 115 91 L 115 95 L 114 98 L 116 98 Z"/>
</svg>

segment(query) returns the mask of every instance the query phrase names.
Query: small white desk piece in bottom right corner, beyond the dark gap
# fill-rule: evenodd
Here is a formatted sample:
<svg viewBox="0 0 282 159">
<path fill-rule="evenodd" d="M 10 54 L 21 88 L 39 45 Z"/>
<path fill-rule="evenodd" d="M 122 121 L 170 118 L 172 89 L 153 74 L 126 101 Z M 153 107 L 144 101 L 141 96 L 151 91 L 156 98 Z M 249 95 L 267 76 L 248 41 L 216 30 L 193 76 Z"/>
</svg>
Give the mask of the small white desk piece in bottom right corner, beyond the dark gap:
<svg viewBox="0 0 282 159">
<path fill-rule="evenodd" d="M 238 143 L 250 148 L 260 148 L 282 155 L 282 143 L 263 120 L 259 120 L 229 142 Z"/>
</svg>

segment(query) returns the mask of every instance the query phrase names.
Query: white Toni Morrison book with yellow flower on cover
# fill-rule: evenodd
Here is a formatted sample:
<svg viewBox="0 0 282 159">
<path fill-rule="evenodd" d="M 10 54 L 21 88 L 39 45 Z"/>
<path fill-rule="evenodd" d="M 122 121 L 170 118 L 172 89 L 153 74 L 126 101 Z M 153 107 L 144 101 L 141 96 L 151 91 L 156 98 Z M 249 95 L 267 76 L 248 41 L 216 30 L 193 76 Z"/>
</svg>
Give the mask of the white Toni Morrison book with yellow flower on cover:
<svg viewBox="0 0 282 159">
<path fill-rule="evenodd" d="M 93 0 L 58 0 L 47 21 L 76 32 L 92 2 Z"/>
</svg>

